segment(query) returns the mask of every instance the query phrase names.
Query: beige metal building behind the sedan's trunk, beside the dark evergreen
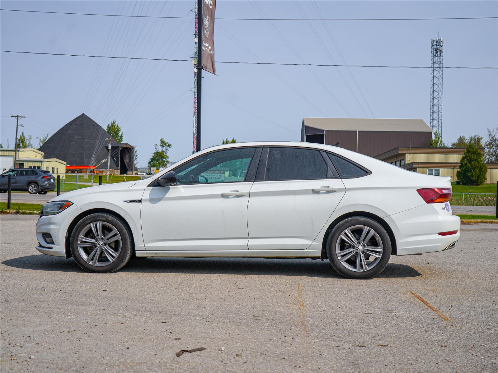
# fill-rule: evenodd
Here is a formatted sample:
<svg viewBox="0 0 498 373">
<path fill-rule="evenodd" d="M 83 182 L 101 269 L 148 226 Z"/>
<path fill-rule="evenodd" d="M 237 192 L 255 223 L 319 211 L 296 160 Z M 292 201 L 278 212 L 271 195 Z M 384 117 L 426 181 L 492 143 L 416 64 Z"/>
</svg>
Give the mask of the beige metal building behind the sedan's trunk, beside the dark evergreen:
<svg viewBox="0 0 498 373">
<path fill-rule="evenodd" d="M 479 149 L 484 154 L 484 148 Z M 465 148 L 410 148 L 398 147 L 379 154 L 375 158 L 408 171 L 434 176 L 449 176 L 451 181 L 457 179 Z M 486 184 L 498 181 L 498 164 L 487 163 Z"/>
</svg>

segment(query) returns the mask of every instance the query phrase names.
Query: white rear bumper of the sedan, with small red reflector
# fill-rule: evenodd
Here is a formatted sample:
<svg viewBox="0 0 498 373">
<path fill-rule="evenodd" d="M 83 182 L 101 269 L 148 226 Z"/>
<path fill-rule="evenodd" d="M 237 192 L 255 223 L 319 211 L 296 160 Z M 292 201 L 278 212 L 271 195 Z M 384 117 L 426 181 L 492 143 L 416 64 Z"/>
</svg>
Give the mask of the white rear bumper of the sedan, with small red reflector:
<svg viewBox="0 0 498 373">
<path fill-rule="evenodd" d="M 460 218 L 443 211 L 444 203 L 418 206 L 385 218 L 396 238 L 396 255 L 422 254 L 455 247 L 460 238 Z M 456 230 L 441 236 L 440 232 Z"/>
</svg>

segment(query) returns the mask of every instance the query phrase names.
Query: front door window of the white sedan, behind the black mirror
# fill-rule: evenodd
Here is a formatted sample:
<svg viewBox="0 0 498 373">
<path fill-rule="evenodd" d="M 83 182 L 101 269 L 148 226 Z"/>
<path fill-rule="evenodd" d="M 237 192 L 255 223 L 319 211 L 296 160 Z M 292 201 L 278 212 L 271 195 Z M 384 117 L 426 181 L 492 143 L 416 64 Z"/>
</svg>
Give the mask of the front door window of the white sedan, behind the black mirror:
<svg viewBox="0 0 498 373">
<path fill-rule="evenodd" d="M 176 168 L 178 184 L 231 183 L 246 179 L 255 148 L 205 154 Z"/>
</svg>

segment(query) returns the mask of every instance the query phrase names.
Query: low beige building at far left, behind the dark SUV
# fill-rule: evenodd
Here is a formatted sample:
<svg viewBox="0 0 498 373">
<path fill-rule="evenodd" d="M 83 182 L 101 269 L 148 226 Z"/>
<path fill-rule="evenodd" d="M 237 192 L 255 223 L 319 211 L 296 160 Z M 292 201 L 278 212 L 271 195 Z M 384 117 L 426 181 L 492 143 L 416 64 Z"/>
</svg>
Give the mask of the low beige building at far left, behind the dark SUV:
<svg viewBox="0 0 498 373">
<path fill-rule="evenodd" d="M 66 172 L 66 162 L 57 158 L 43 158 L 43 152 L 34 148 L 17 149 L 17 168 L 41 169 L 53 175 Z M 14 168 L 14 149 L 0 149 L 0 172 Z"/>
</svg>

